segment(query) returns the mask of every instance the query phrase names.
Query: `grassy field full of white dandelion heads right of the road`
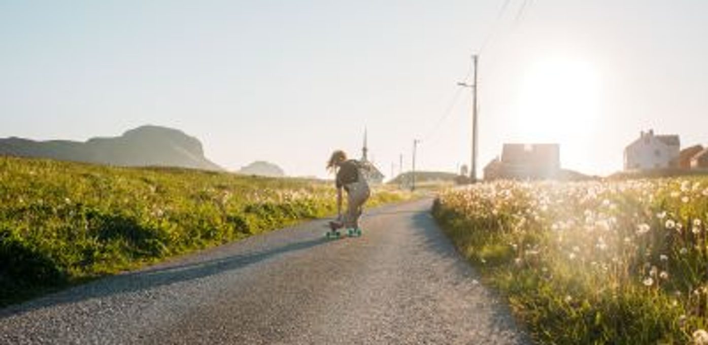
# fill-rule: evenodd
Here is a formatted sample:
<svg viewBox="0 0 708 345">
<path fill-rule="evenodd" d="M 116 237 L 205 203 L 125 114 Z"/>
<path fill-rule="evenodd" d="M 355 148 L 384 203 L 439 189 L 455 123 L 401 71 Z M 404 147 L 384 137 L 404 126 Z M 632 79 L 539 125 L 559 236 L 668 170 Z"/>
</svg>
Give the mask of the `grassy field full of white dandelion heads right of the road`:
<svg viewBox="0 0 708 345">
<path fill-rule="evenodd" d="M 483 183 L 436 219 L 542 344 L 708 344 L 708 179 Z"/>
</svg>

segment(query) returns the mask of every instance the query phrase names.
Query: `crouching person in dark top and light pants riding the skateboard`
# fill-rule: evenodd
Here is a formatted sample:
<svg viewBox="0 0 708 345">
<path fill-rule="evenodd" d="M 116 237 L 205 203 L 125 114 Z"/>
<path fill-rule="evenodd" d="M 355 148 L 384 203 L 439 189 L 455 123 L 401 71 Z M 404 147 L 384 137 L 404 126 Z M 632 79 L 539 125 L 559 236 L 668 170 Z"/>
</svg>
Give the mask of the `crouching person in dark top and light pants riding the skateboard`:
<svg viewBox="0 0 708 345">
<path fill-rule="evenodd" d="M 355 159 L 347 159 L 346 153 L 338 149 L 332 153 L 327 169 L 336 173 L 338 220 L 343 221 L 348 234 L 360 235 L 359 217 L 363 212 L 364 203 L 371 195 L 369 183 L 362 174 L 362 169 L 366 169 L 366 166 Z M 343 218 L 342 189 L 347 192 L 347 212 Z"/>
</svg>

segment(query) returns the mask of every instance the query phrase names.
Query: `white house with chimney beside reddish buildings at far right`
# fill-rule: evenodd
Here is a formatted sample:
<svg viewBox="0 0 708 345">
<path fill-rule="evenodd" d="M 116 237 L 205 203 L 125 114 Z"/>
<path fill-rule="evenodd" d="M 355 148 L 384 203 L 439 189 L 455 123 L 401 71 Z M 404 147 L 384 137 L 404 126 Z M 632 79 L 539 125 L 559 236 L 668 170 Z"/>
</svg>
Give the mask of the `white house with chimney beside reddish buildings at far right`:
<svg viewBox="0 0 708 345">
<path fill-rule="evenodd" d="M 642 131 L 639 139 L 624 148 L 624 170 L 663 169 L 678 162 L 681 143 L 678 135 L 654 135 Z"/>
</svg>

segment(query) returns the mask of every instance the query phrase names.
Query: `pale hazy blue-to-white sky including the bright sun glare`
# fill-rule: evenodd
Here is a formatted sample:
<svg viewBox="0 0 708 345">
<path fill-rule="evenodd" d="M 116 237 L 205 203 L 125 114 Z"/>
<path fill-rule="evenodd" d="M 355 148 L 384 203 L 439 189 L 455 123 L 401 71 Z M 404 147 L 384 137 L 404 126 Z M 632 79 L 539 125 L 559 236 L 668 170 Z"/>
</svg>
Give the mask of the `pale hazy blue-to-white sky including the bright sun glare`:
<svg viewBox="0 0 708 345">
<path fill-rule="evenodd" d="M 641 130 L 708 144 L 704 0 L 0 0 L 0 137 L 87 140 L 139 125 L 198 137 L 229 170 L 326 177 L 334 149 L 387 176 L 557 142 L 622 169 Z"/>
</svg>

